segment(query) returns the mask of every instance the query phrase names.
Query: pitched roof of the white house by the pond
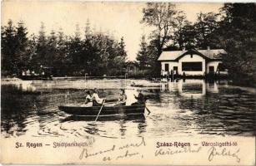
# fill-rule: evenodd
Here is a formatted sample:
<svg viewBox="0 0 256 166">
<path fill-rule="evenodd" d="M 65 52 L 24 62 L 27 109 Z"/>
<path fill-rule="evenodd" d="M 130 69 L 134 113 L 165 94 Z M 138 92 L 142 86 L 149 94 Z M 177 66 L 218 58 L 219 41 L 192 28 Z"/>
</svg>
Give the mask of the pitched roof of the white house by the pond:
<svg viewBox="0 0 256 166">
<path fill-rule="evenodd" d="M 222 59 L 223 54 L 227 54 L 223 49 L 214 50 L 186 50 L 186 51 L 163 51 L 158 61 L 176 61 L 180 56 L 187 55 L 189 51 L 193 51 L 200 56 L 205 56 L 210 60 Z"/>
</svg>

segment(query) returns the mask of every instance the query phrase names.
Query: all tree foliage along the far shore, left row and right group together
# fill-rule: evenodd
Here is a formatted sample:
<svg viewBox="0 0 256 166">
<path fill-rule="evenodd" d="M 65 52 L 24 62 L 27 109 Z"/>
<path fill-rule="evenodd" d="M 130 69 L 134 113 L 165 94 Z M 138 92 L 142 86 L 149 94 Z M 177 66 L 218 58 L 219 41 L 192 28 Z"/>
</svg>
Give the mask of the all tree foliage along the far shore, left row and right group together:
<svg viewBox="0 0 256 166">
<path fill-rule="evenodd" d="M 234 82 L 256 82 L 255 3 L 225 3 L 219 13 L 198 13 L 194 23 L 169 2 L 148 2 L 142 13 L 141 22 L 153 31 L 147 34 L 148 40 L 145 35 L 141 38 L 138 64 L 133 64 L 141 70 L 136 71 L 139 75 L 159 74 L 157 60 L 163 50 L 211 46 L 228 52 L 223 65 Z M 42 67 L 53 76 L 124 75 L 128 63 L 123 37 L 116 40 L 95 32 L 89 20 L 84 34 L 77 25 L 73 36 L 66 36 L 62 29 L 47 35 L 42 22 L 38 35 L 28 37 L 24 22 L 15 27 L 9 20 L 1 31 L 2 75 L 20 75 L 28 69 L 38 72 Z"/>
</svg>

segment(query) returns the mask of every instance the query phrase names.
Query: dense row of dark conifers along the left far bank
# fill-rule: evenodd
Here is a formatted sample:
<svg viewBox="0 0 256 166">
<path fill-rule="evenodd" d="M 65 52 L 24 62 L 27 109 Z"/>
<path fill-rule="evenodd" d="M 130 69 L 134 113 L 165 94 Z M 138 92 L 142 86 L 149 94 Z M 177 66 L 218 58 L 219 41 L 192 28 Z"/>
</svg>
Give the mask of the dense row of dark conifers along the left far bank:
<svg viewBox="0 0 256 166">
<path fill-rule="evenodd" d="M 30 70 L 40 73 L 48 69 L 53 76 L 123 75 L 127 52 L 123 37 L 120 41 L 101 32 L 92 32 L 86 23 L 85 37 L 77 25 L 73 37 L 63 30 L 49 36 L 41 23 L 38 36 L 28 37 L 23 22 L 18 27 L 10 20 L 2 27 L 2 74 L 21 75 Z"/>
</svg>

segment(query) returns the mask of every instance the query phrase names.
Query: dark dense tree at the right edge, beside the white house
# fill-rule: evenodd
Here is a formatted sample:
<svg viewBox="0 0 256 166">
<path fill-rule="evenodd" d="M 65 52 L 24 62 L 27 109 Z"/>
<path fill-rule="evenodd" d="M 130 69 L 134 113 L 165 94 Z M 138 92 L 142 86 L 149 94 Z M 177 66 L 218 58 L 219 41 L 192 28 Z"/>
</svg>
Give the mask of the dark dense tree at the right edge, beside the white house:
<svg viewBox="0 0 256 166">
<path fill-rule="evenodd" d="M 218 42 L 227 52 L 224 65 L 235 83 L 256 82 L 256 4 L 225 3 Z"/>
</svg>

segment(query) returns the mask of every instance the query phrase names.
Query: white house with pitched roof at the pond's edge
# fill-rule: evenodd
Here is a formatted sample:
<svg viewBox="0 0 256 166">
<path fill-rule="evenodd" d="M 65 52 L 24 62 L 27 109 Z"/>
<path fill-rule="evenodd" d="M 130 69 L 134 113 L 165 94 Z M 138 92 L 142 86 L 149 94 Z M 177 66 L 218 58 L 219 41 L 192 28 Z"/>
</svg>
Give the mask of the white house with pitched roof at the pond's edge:
<svg viewBox="0 0 256 166">
<path fill-rule="evenodd" d="M 161 62 L 162 71 L 186 76 L 203 76 L 216 73 L 218 65 L 222 63 L 223 49 L 210 50 L 184 50 L 163 51 L 158 61 Z M 166 72 L 165 72 L 166 73 Z"/>
</svg>

